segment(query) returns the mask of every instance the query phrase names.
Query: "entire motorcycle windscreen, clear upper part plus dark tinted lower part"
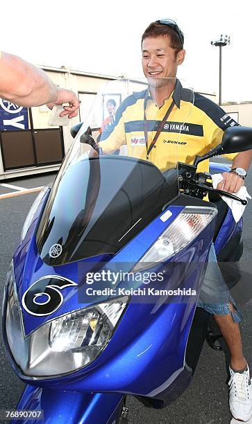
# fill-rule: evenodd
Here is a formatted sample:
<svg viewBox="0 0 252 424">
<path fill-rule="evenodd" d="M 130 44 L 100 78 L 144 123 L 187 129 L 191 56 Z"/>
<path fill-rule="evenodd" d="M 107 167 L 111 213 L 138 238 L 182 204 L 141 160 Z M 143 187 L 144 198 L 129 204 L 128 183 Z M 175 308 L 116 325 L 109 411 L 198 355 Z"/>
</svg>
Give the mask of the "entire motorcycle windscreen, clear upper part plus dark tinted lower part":
<svg viewBox="0 0 252 424">
<path fill-rule="evenodd" d="M 165 82 L 181 89 L 174 78 Z M 172 100 L 158 107 L 158 89 L 140 79 L 109 82 L 97 94 L 63 161 L 37 231 L 45 263 L 116 254 L 178 196 L 178 143 L 192 102 L 185 104 L 183 122 L 175 125 L 176 104 L 165 118 Z M 171 114 L 174 132 L 167 143 Z M 102 156 L 95 156 L 83 142 L 90 134 L 103 149 Z M 158 148 L 165 148 L 165 154 L 157 155 Z"/>
</svg>

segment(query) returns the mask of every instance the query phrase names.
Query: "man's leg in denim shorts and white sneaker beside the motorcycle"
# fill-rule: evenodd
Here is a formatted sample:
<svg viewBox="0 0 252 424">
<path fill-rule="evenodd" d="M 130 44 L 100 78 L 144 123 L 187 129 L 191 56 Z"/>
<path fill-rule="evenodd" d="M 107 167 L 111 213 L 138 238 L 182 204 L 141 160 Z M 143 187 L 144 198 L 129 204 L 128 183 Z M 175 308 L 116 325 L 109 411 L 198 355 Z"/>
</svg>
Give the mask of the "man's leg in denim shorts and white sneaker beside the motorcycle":
<svg viewBox="0 0 252 424">
<path fill-rule="evenodd" d="M 241 315 L 221 274 L 213 245 L 198 306 L 214 315 L 230 351 L 230 412 L 239 421 L 249 421 L 252 416 L 252 385 L 249 366 L 242 352 L 242 337 L 238 324 Z"/>
</svg>

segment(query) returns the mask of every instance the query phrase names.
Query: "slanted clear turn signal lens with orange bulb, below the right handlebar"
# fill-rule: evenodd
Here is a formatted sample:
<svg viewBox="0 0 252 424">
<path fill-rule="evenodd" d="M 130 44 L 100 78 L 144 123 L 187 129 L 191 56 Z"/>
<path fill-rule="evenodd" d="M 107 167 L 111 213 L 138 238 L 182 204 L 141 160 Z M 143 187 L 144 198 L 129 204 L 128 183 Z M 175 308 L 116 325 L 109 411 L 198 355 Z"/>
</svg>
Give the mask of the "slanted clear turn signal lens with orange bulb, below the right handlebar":
<svg viewBox="0 0 252 424">
<path fill-rule="evenodd" d="M 189 245 L 215 218 L 217 209 L 205 206 L 187 206 L 171 222 L 151 248 L 146 251 L 131 272 L 147 270 L 163 262 Z"/>
</svg>

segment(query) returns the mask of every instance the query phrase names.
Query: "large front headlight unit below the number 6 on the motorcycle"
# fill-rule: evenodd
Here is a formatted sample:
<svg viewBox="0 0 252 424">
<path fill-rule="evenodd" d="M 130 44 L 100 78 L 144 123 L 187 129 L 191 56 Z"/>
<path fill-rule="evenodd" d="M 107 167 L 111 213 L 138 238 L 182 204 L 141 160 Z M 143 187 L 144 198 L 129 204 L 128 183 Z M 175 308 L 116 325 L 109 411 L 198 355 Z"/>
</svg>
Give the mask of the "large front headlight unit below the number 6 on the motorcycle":
<svg viewBox="0 0 252 424">
<path fill-rule="evenodd" d="M 26 336 L 12 267 L 6 295 L 3 325 L 8 346 L 24 376 L 33 378 L 53 378 L 94 361 L 110 341 L 129 299 L 119 297 L 69 312 Z"/>
</svg>

